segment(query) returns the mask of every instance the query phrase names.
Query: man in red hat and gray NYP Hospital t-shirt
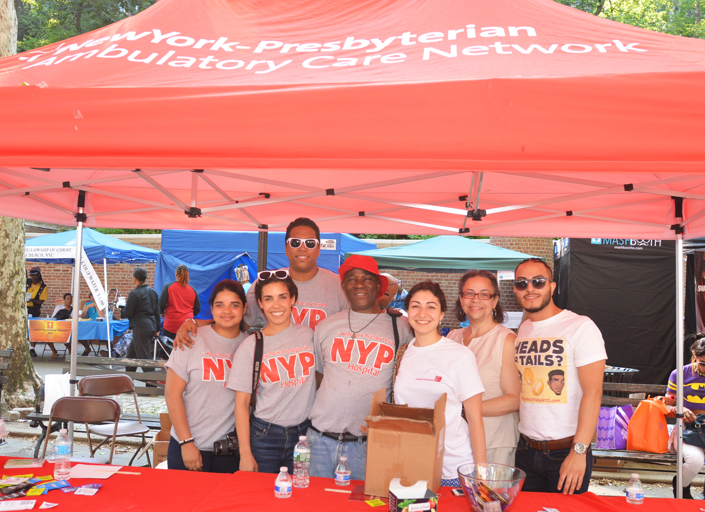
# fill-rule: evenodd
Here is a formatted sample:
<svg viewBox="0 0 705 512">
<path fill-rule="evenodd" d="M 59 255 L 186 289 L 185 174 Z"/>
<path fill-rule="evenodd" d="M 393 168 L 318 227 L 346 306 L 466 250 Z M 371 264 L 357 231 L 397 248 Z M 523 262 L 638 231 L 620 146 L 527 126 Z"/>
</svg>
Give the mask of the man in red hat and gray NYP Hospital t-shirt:
<svg viewBox="0 0 705 512">
<path fill-rule="evenodd" d="M 347 456 L 350 477 L 364 480 L 367 436 L 361 426 L 374 391 L 391 394 L 396 348 L 413 334 L 405 317 L 377 305 L 389 281 L 372 257 L 350 256 L 338 274 L 350 309 L 326 318 L 314 334 L 320 387 L 309 415 L 310 474 L 333 478 L 340 457 Z"/>
</svg>

